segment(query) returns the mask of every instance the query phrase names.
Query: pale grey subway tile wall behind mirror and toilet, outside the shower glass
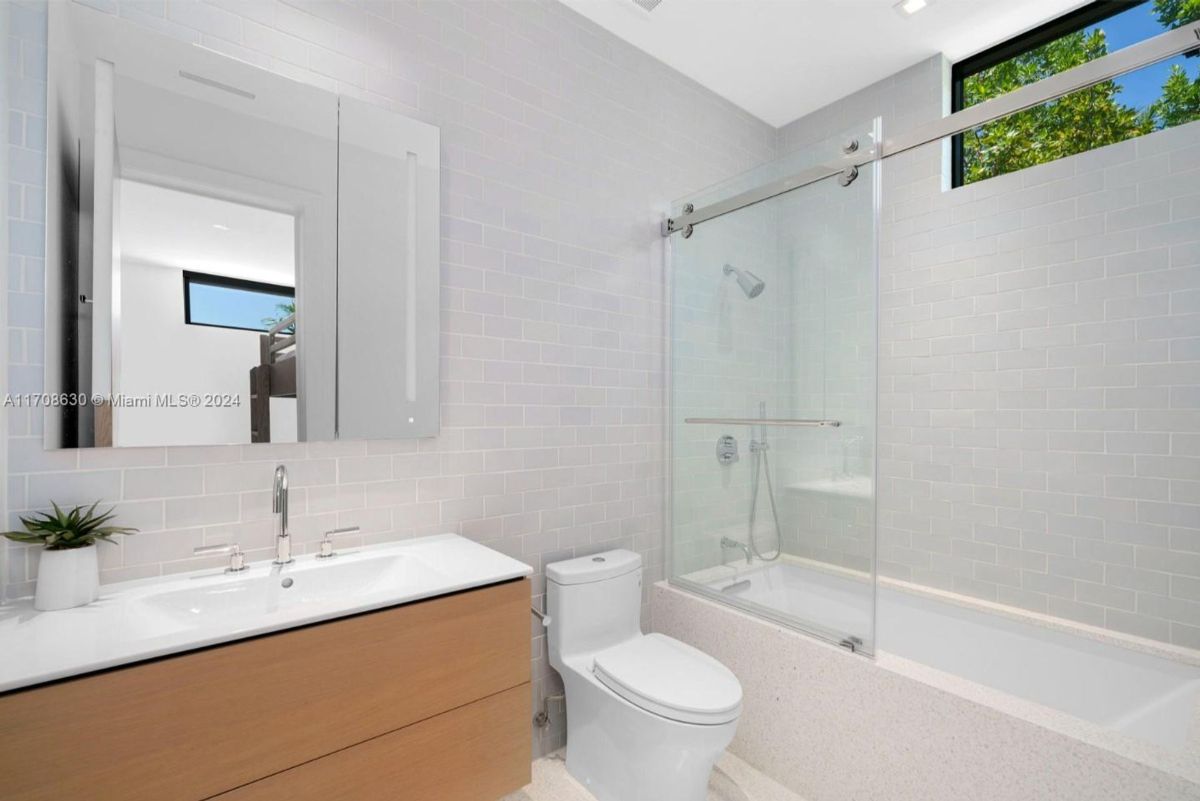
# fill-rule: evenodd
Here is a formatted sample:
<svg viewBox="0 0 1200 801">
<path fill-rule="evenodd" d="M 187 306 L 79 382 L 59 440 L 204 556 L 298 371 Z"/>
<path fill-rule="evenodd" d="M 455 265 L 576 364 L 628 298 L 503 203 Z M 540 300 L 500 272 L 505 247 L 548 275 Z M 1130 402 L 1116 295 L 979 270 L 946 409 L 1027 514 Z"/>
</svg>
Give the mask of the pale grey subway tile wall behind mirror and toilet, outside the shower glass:
<svg viewBox="0 0 1200 801">
<path fill-rule="evenodd" d="M 666 201 L 772 158 L 775 131 L 552 0 L 220 0 L 88 5 L 290 78 L 438 125 L 443 141 L 442 418 L 437 439 L 44 452 L 7 410 L 8 514 L 101 499 L 142 534 L 103 580 L 216 565 L 200 543 L 268 553 L 271 471 L 293 525 L 373 542 L 440 531 L 536 570 L 592 550 L 662 555 Z M 8 381 L 42 385 L 46 12 L 10 2 Z M 352 544 L 352 543 L 348 543 Z M 35 552 L 10 544 L 6 591 Z M 540 634 L 540 632 L 535 632 Z M 534 640 L 535 699 L 556 692 Z M 547 683 L 550 682 L 550 683 Z M 536 703 L 536 700 L 535 700 Z M 562 716 L 535 748 L 562 746 Z"/>
</svg>

